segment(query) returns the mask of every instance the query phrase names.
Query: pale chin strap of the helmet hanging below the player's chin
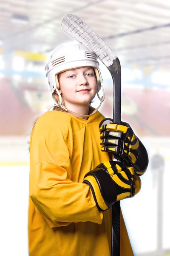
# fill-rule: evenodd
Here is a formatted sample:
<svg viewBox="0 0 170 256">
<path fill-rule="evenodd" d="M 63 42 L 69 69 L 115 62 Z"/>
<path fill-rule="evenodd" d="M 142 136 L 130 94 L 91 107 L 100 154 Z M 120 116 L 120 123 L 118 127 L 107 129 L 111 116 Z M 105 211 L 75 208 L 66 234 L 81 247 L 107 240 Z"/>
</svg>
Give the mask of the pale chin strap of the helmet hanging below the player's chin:
<svg viewBox="0 0 170 256">
<path fill-rule="evenodd" d="M 57 94 L 58 94 L 58 96 L 59 96 L 59 101 L 58 101 L 58 103 L 55 102 L 54 105 L 48 105 L 48 106 L 46 107 L 46 109 L 49 111 L 51 108 L 54 108 L 54 107 L 57 106 L 57 107 L 59 107 L 59 108 L 62 108 L 65 112 L 68 112 L 68 113 L 70 113 L 70 114 L 73 115 L 73 116 L 76 116 L 76 117 L 78 117 L 78 118 L 83 118 L 83 119 L 88 118 L 89 116 L 91 116 L 91 115 L 93 115 L 94 113 L 96 113 L 96 112 L 98 111 L 98 109 L 101 107 L 102 102 L 103 102 L 104 99 L 105 99 L 105 93 L 104 93 L 103 86 L 102 86 L 102 93 L 103 93 L 103 96 L 102 96 L 101 98 L 100 98 L 100 96 L 99 96 L 99 93 L 97 92 L 97 96 L 98 96 L 98 98 L 99 98 L 99 100 L 100 100 L 99 106 L 98 106 L 96 109 L 95 109 L 95 108 L 91 108 L 92 110 L 94 109 L 94 111 L 93 111 L 91 114 L 89 114 L 89 115 L 83 115 L 83 114 L 79 114 L 79 113 L 70 111 L 70 110 L 68 110 L 65 106 L 63 106 L 63 105 L 62 105 L 61 94 L 59 93 L 59 90 L 58 90 L 57 88 L 56 88 L 56 92 L 57 92 Z"/>
</svg>

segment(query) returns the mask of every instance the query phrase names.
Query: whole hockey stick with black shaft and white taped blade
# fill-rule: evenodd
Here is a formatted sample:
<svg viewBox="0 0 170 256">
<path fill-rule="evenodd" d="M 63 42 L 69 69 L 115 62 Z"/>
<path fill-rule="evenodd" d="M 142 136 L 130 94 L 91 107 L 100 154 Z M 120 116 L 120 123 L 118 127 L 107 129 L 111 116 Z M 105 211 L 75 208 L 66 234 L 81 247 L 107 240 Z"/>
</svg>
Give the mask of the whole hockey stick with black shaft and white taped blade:
<svg viewBox="0 0 170 256">
<path fill-rule="evenodd" d="M 79 43 L 96 53 L 99 60 L 108 68 L 113 79 L 113 121 L 121 120 L 121 67 L 119 59 L 108 44 L 83 20 L 73 14 L 62 19 L 62 29 Z M 112 245 L 111 256 L 120 255 L 120 202 L 112 206 Z"/>
</svg>

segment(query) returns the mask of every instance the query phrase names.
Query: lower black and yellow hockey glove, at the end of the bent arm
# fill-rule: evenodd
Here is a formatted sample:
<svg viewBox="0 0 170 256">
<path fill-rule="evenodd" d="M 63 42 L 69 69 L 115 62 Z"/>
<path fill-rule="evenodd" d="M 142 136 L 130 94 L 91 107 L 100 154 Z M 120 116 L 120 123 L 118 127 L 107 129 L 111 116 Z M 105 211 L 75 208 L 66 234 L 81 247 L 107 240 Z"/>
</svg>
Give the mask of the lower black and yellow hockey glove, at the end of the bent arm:
<svg viewBox="0 0 170 256">
<path fill-rule="evenodd" d="M 83 180 L 92 190 L 96 206 L 105 211 L 116 201 L 133 197 L 140 191 L 140 177 L 135 177 L 133 167 L 122 162 L 107 161 L 88 172 Z"/>
</svg>

